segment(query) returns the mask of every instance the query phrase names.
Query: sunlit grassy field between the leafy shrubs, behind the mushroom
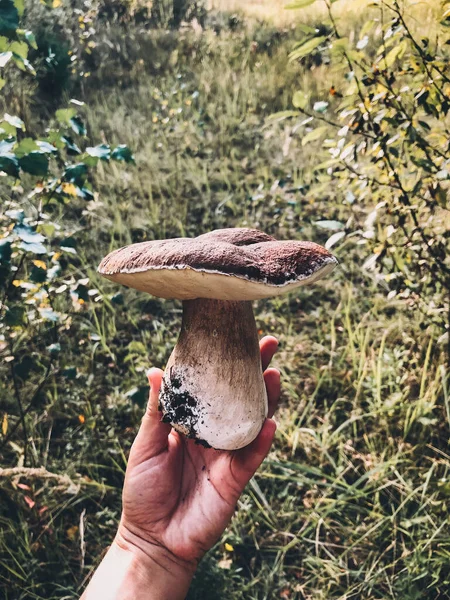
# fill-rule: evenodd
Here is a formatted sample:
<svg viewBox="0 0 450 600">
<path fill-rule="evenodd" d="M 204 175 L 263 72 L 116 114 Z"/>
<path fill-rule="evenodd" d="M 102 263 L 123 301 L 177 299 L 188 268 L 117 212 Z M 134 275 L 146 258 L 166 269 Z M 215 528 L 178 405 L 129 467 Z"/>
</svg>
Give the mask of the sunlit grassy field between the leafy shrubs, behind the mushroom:
<svg viewBox="0 0 450 600">
<path fill-rule="evenodd" d="M 23 338 L 36 356 L 58 328 L 61 346 L 37 395 L 17 384 L 27 403 L 36 395 L 27 442 L 20 427 L 8 437 L 20 411 L 9 367 L 2 371 L 5 600 L 81 592 L 120 516 L 145 371 L 163 368 L 176 341 L 180 305 L 105 282 L 100 259 L 130 242 L 234 226 L 325 244 L 342 227 L 363 229 L 374 211 L 367 198 L 343 202 L 346 189 L 315 174 L 328 133 L 303 144 L 299 119 L 271 118 L 292 110 L 299 88 L 320 99 L 337 85 L 327 64 L 288 60 L 301 32 L 287 24 L 316 24 L 322 13 L 241 4 L 213 0 L 204 28 L 112 24 L 75 91 L 40 96 L 42 104 L 34 88 L 0 100 L 39 129 L 76 95 L 90 143 L 127 144 L 136 160 L 100 161 L 94 199 L 55 208 L 76 239 L 67 285 L 89 278 L 97 294 L 74 300 L 64 309 L 70 324 L 49 326 L 42 343 Z M 371 10 L 355 4 L 340 13 L 349 37 Z M 420 8 L 424 30 L 434 27 L 435 6 Z M 20 190 L 2 184 L 1 193 L 7 202 Z M 340 265 L 328 279 L 255 303 L 259 333 L 280 341 L 276 440 L 201 563 L 190 600 L 450 597 L 448 332 L 430 319 L 434 297 L 427 312 L 408 293 L 390 294 L 357 240 L 333 246 Z"/>
</svg>

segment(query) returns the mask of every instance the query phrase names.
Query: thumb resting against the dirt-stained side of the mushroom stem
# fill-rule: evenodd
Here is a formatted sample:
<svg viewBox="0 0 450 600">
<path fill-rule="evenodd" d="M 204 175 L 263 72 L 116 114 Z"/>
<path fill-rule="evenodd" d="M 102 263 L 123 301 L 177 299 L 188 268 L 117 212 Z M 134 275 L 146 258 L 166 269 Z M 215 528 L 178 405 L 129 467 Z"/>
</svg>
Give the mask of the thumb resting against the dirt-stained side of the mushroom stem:
<svg viewBox="0 0 450 600">
<path fill-rule="evenodd" d="M 167 448 L 167 438 L 172 428 L 168 423 L 161 421 L 161 413 L 158 410 L 158 396 L 163 375 L 161 369 L 151 369 L 147 375 L 150 384 L 150 396 L 147 410 L 133 444 L 130 460 L 133 458 L 137 459 L 138 462 L 143 462 L 160 454 Z"/>
</svg>

